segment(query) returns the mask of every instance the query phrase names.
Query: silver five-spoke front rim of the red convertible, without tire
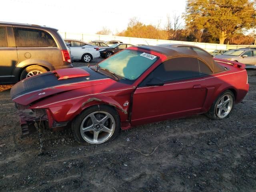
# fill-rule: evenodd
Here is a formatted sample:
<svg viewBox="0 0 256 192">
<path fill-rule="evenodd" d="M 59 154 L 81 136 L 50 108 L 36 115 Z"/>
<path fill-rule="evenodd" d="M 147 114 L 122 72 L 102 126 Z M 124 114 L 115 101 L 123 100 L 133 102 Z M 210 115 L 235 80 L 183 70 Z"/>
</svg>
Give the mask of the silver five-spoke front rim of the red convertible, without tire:
<svg viewBox="0 0 256 192">
<path fill-rule="evenodd" d="M 80 126 L 82 138 L 91 144 L 106 142 L 116 127 L 114 117 L 105 111 L 92 112 L 84 118 Z"/>
</svg>

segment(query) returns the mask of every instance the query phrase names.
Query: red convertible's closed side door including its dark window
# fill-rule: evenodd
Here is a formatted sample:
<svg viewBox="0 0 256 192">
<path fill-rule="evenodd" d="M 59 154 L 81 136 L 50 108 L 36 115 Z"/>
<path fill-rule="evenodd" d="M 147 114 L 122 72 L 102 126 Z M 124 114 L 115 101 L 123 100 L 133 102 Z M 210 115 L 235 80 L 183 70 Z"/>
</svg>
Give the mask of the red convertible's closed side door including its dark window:
<svg viewBox="0 0 256 192">
<path fill-rule="evenodd" d="M 207 93 L 207 82 L 200 77 L 200 64 L 203 63 L 197 58 L 172 58 L 152 71 L 134 92 L 132 126 L 199 113 Z M 207 70 L 206 73 L 212 73 L 210 68 Z M 163 85 L 148 85 L 153 78 Z"/>
</svg>

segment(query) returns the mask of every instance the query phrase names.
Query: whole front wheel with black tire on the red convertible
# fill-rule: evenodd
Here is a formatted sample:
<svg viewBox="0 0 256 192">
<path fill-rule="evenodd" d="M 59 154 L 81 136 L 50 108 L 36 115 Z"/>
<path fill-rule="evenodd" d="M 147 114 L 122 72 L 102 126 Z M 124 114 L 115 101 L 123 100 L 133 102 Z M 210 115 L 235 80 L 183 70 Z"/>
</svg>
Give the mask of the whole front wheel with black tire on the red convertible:
<svg viewBox="0 0 256 192">
<path fill-rule="evenodd" d="M 72 122 L 74 138 L 80 144 L 102 144 L 112 141 L 120 134 L 120 130 L 118 113 L 106 105 L 92 106 Z"/>
</svg>

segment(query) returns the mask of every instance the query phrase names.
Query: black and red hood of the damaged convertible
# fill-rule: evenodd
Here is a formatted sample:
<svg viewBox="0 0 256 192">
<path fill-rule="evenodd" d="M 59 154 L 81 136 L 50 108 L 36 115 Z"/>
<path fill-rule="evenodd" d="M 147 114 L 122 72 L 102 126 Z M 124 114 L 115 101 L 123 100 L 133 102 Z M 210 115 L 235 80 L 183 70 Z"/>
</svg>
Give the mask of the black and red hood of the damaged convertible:
<svg viewBox="0 0 256 192">
<path fill-rule="evenodd" d="M 113 83 L 117 82 L 108 76 L 93 71 L 91 68 L 70 68 L 26 78 L 15 84 L 10 93 L 14 102 L 28 105 L 61 92 Z M 94 88 L 91 88 L 90 92 L 93 93 L 93 91 Z"/>
</svg>

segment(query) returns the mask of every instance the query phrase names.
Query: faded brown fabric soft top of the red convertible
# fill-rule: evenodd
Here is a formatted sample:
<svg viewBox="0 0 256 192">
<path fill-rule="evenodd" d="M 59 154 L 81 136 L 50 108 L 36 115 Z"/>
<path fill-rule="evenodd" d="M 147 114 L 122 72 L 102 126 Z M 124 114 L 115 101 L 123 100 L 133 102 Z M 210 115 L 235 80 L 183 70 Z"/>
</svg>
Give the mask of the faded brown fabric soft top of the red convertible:
<svg viewBox="0 0 256 192">
<path fill-rule="evenodd" d="M 212 70 L 213 73 L 220 72 L 225 70 L 224 67 L 220 66 L 217 62 L 215 62 L 210 54 L 203 53 L 203 52 L 196 52 L 191 49 L 182 48 L 182 47 L 167 47 L 167 46 L 138 46 L 138 48 L 151 50 L 154 52 L 158 52 L 161 54 L 166 55 L 167 58 L 174 58 L 174 57 L 196 57 L 205 62 L 208 67 Z"/>
</svg>

